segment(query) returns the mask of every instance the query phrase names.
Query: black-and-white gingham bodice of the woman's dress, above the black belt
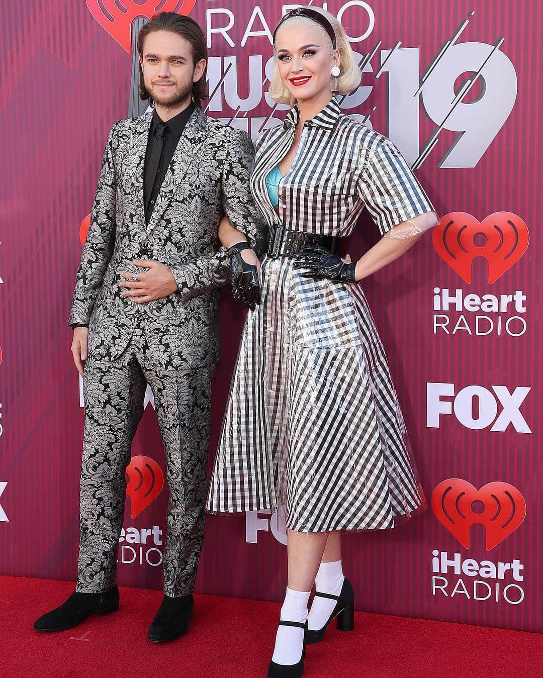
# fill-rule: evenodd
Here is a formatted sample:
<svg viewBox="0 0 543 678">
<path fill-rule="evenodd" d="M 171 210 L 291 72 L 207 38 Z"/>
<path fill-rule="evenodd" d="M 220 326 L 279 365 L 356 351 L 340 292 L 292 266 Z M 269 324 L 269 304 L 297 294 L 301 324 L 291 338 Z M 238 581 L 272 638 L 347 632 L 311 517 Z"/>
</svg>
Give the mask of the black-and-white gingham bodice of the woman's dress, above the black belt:
<svg viewBox="0 0 543 678">
<path fill-rule="evenodd" d="M 256 142 L 251 188 L 268 225 L 349 235 L 364 207 L 382 234 L 434 207 L 396 146 L 341 113 L 336 99 L 304 123 L 298 151 L 279 184 L 279 216 L 266 188 L 270 169 L 287 155 L 299 112 Z"/>
</svg>

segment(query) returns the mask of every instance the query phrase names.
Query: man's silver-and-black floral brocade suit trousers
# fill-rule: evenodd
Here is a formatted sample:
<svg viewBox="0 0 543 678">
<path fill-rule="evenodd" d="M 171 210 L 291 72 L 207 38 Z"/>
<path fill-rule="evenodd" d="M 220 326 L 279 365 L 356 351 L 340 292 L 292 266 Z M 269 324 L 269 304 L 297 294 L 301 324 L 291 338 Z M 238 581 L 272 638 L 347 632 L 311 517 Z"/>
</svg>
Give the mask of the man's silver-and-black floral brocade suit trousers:
<svg viewBox="0 0 543 678">
<path fill-rule="evenodd" d="M 119 359 L 105 361 L 89 351 L 83 372 L 85 433 L 76 591 L 98 593 L 115 586 L 125 469 L 143 414 L 147 383 L 155 397 L 170 492 L 164 592 L 176 597 L 193 591 L 205 525 L 212 373 L 210 367 L 157 367 L 138 331 Z"/>
</svg>

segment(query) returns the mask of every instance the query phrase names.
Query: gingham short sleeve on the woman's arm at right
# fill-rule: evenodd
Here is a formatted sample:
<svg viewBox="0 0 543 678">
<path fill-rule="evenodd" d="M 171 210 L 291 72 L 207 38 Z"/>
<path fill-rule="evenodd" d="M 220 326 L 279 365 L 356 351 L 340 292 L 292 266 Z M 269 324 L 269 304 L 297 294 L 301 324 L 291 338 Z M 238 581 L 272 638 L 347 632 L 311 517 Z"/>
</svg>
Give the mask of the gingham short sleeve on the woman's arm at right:
<svg viewBox="0 0 543 678">
<path fill-rule="evenodd" d="M 388 139 L 369 151 L 358 191 L 381 235 L 407 219 L 435 212 L 405 158 Z"/>
</svg>

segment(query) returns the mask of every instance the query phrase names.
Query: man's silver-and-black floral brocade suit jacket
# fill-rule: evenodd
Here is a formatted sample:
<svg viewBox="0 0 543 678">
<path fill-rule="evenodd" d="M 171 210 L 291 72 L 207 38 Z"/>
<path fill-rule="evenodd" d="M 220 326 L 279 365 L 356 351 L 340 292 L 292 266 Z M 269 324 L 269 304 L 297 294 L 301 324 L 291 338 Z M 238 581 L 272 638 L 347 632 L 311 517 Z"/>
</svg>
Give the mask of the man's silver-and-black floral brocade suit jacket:
<svg viewBox="0 0 543 678">
<path fill-rule="evenodd" d="M 158 365 L 214 364 L 217 289 L 230 271 L 225 248 L 218 248 L 218 223 L 226 214 L 257 252 L 264 241 L 249 189 L 253 144 L 245 132 L 196 108 L 146 224 L 143 167 L 151 119 L 121 120 L 110 130 L 69 323 L 89 324 L 89 352 L 97 357 L 119 357 L 138 327 Z M 133 259 L 169 266 L 178 290 L 145 304 L 123 297 L 120 272 L 145 270 Z"/>
</svg>

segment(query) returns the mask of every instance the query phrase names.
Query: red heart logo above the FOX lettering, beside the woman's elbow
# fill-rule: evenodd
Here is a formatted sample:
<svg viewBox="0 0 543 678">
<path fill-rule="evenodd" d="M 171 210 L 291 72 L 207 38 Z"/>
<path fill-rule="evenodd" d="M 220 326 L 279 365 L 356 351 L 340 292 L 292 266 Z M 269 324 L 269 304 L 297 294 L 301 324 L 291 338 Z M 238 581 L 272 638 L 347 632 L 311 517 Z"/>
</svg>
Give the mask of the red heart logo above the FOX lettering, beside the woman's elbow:
<svg viewBox="0 0 543 678">
<path fill-rule="evenodd" d="M 450 212 L 432 237 L 437 254 L 466 283 L 471 283 L 473 260 L 486 259 L 489 285 L 517 263 L 529 243 L 528 227 L 512 212 L 494 212 L 481 222 L 467 212 Z"/>
</svg>

